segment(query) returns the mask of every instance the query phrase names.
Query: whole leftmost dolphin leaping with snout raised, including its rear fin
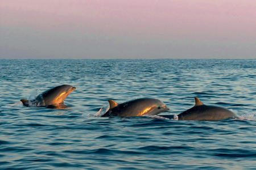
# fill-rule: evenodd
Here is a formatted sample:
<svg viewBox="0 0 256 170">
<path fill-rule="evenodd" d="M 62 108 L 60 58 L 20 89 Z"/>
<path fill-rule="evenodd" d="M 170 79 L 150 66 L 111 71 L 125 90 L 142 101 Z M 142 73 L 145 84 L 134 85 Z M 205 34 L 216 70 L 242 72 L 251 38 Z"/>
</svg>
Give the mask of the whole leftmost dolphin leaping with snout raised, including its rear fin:
<svg viewBox="0 0 256 170">
<path fill-rule="evenodd" d="M 34 100 L 21 99 L 26 107 L 45 107 L 49 105 L 63 104 L 66 97 L 76 90 L 76 87 L 64 84 L 51 88 L 38 95 Z"/>
</svg>

